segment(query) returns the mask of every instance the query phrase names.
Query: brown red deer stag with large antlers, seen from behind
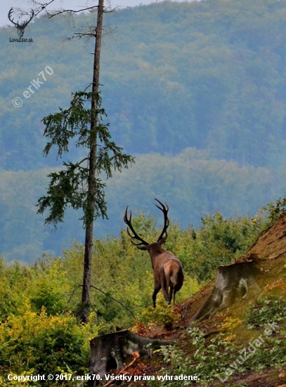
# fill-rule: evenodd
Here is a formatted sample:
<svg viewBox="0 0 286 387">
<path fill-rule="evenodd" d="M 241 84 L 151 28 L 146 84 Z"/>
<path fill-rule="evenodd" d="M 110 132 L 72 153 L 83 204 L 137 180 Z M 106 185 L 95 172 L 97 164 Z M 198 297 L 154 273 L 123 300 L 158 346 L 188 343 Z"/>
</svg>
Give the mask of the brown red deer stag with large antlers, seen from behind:
<svg viewBox="0 0 286 387">
<path fill-rule="evenodd" d="M 183 286 L 183 266 L 181 262 L 178 260 L 178 258 L 176 258 L 174 254 L 170 253 L 169 251 L 165 251 L 162 248 L 162 244 L 164 244 L 167 239 L 167 228 L 169 226 L 169 219 L 167 214 L 169 207 L 167 203 L 165 203 L 166 205 L 164 205 L 156 198 L 155 201 L 160 203 L 162 207 L 157 204 L 155 205 L 164 214 L 164 227 L 156 242 L 148 243 L 144 241 L 141 236 L 138 236 L 131 224 L 131 211 L 128 217 L 128 205 L 126 207 L 123 217 L 124 222 L 127 224 L 127 232 L 131 237 L 131 243 L 134 244 L 134 246 L 137 246 L 137 248 L 139 248 L 140 250 L 147 250 L 150 255 L 155 279 L 155 288 L 154 293 L 152 295 L 153 307 L 156 307 L 156 296 L 161 288 L 165 300 L 167 301 L 167 303 L 170 304 L 173 293 L 175 303 L 176 292 L 179 291 Z M 136 241 L 139 241 L 139 243 L 134 242 L 134 239 Z"/>
</svg>

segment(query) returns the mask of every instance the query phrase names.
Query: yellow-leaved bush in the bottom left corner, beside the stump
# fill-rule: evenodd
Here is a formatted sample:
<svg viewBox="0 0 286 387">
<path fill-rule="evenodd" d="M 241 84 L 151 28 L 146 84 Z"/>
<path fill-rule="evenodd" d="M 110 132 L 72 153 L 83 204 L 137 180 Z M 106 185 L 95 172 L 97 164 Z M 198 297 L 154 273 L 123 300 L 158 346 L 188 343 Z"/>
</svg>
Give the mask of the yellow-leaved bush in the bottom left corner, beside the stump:
<svg viewBox="0 0 286 387">
<path fill-rule="evenodd" d="M 47 315 L 44 307 L 33 312 L 25 300 L 18 315 L 0 324 L 1 374 L 78 372 L 88 362 L 89 339 L 96 334 L 73 316 Z"/>
</svg>

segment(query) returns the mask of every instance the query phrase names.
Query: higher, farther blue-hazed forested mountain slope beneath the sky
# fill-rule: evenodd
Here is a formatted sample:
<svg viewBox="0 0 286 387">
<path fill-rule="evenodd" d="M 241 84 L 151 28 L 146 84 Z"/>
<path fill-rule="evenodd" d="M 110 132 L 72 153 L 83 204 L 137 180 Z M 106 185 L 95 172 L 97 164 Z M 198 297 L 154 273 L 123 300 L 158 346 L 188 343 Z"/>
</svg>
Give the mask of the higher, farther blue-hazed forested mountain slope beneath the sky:
<svg viewBox="0 0 286 387">
<path fill-rule="evenodd" d="M 285 15 L 276 0 L 165 1 L 107 14 L 102 84 L 112 137 L 131 154 L 195 147 L 242 166 L 285 162 Z M 79 15 L 74 27 L 94 18 Z M 6 170 L 51 163 L 41 158 L 41 118 L 88 83 L 91 43 L 60 44 L 72 34 L 66 22 L 35 20 L 27 33 L 41 44 L 33 45 L 9 44 L 1 29 Z M 15 108 L 13 98 L 46 65 L 53 75 Z"/>
</svg>

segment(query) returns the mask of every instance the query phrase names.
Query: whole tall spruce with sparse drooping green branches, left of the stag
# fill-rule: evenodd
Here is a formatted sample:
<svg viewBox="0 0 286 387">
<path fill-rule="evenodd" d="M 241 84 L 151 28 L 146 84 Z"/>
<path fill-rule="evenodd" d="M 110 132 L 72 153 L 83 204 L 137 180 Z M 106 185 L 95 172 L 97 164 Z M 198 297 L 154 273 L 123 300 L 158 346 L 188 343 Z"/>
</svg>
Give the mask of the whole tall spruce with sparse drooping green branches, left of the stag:
<svg viewBox="0 0 286 387">
<path fill-rule="evenodd" d="M 52 2 L 52 1 L 51 1 Z M 35 2 L 39 6 L 39 2 Z M 44 6 L 44 4 L 43 4 Z M 94 9 L 93 9 L 94 8 Z M 86 158 L 77 163 L 63 163 L 63 170 L 53 172 L 48 177 L 51 181 L 46 196 L 39 198 L 40 214 L 49 210 L 47 223 L 56 226 L 63 222 L 65 210 L 71 206 L 75 210 L 82 209 L 85 228 L 84 244 L 84 277 L 82 286 L 82 308 L 79 317 L 83 323 L 89 320 L 90 290 L 91 290 L 91 262 L 93 253 L 93 222 L 97 217 L 107 217 L 105 202 L 105 182 L 112 177 L 112 170 L 121 171 L 134 162 L 134 158 L 122 153 L 110 136 L 108 124 L 104 123 L 105 110 L 101 108 L 99 91 L 100 78 L 100 49 L 103 32 L 103 14 L 105 13 L 104 0 L 98 0 L 98 5 L 80 11 L 97 10 L 96 27 L 89 27 L 85 32 L 79 32 L 77 37 L 95 38 L 93 80 L 91 91 L 78 91 L 72 94 L 70 108 L 60 108 L 58 113 L 48 115 L 43 119 L 46 129 L 44 136 L 50 139 L 44 148 L 47 156 L 53 146 L 58 148 L 58 156 L 69 151 L 70 141 L 77 147 L 86 148 Z M 79 11 L 59 10 L 48 13 L 49 17 L 62 13 Z M 91 108 L 86 108 L 86 102 Z"/>
</svg>

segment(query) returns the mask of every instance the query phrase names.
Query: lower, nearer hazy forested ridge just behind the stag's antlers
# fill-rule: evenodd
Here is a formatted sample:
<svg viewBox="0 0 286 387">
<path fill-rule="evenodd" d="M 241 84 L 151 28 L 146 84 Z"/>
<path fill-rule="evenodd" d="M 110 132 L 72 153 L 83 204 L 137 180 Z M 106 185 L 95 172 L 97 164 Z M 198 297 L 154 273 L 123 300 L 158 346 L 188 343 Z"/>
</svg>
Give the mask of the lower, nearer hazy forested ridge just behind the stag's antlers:
<svg viewBox="0 0 286 387">
<path fill-rule="evenodd" d="M 43 253 L 61 255 L 73 241 L 84 241 L 79 219 L 82 212 L 67 210 L 65 222 L 56 231 L 44 226 L 37 215 L 37 199 L 48 186 L 46 175 L 54 168 L 30 172 L 0 172 L 1 253 L 8 260 L 32 262 Z M 160 197 L 170 206 L 169 217 L 188 229 L 197 229 L 201 218 L 221 212 L 223 216 L 255 216 L 259 208 L 282 198 L 286 189 L 285 170 L 239 167 L 236 163 L 209 159 L 207 153 L 186 149 L 177 157 L 138 155 L 136 164 L 122 173 L 115 172 L 106 188 L 108 220 L 98 219 L 94 235 L 118 236 L 124 227 L 126 205 L 134 214 L 150 210 L 150 201 Z M 158 218 L 160 225 L 161 218 Z"/>
</svg>

